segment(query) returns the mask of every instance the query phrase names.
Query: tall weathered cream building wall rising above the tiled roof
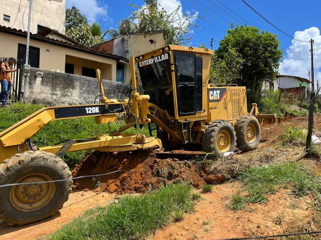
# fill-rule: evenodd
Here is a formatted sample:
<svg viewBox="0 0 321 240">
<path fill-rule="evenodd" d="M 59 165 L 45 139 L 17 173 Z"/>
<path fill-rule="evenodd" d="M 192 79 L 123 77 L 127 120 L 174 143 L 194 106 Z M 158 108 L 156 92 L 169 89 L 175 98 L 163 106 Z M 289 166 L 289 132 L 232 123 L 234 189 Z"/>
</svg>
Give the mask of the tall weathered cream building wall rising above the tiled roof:
<svg viewBox="0 0 321 240">
<path fill-rule="evenodd" d="M 0 25 L 28 30 L 29 0 L 0 0 Z M 3 20 L 10 16 L 10 22 Z M 36 0 L 32 2 L 30 32 L 37 33 L 38 25 L 65 34 L 66 0 Z"/>
</svg>

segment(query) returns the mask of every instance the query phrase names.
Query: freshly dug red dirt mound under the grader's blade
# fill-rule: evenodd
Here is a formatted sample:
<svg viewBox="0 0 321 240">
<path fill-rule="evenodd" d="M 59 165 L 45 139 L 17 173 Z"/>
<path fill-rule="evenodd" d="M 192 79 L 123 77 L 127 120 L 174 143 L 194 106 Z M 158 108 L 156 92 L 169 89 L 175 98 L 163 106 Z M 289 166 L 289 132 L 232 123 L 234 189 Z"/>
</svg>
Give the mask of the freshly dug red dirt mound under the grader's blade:
<svg viewBox="0 0 321 240">
<path fill-rule="evenodd" d="M 97 153 L 99 154 L 99 153 Z M 97 161 L 98 159 L 98 161 Z M 175 158 L 159 159 L 148 150 L 95 154 L 85 159 L 72 171 L 73 177 L 95 175 L 117 170 L 109 175 L 74 180 L 74 189 L 95 189 L 109 193 L 140 193 L 157 188 L 162 183 L 188 181 L 199 188 L 205 184 L 206 175 L 195 165 Z"/>
</svg>

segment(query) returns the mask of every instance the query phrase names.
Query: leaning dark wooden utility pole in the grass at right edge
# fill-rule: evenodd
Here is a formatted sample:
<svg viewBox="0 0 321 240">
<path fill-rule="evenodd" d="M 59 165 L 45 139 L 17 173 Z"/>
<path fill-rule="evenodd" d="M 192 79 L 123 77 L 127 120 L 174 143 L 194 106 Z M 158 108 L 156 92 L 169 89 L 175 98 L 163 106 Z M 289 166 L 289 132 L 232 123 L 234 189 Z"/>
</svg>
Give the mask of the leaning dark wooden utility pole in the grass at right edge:
<svg viewBox="0 0 321 240">
<path fill-rule="evenodd" d="M 311 93 L 310 93 L 310 105 L 309 105 L 309 119 L 308 119 L 308 134 L 307 134 L 307 142 L 305 146 L 306 155 L 309 155 L 308 149 L 311 146 L 311 137 L 312 137 L 312 130 L 313 130 L 313 112 L 314 112 L 314 70 L 313 70 L 313 40 L 311 38 Z"/>
</svg>

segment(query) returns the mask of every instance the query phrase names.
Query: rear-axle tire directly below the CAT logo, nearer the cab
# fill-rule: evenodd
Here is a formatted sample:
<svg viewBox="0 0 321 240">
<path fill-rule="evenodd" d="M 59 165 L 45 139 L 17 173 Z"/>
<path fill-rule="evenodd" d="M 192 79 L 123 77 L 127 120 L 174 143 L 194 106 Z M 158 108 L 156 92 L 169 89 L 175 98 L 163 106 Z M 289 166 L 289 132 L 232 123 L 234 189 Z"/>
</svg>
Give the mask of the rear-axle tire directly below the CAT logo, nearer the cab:
<svg viewBox="0 0 321 240">
<path fill-rule="evenodd" d="M 233 126 L 226 120 L 215 120 L 209 123 L 202 136 L 202 149 L 207 153 L 216 153 L 222 158 L 225 152 L 234 152 L 236 134 Z"/>
</svg>

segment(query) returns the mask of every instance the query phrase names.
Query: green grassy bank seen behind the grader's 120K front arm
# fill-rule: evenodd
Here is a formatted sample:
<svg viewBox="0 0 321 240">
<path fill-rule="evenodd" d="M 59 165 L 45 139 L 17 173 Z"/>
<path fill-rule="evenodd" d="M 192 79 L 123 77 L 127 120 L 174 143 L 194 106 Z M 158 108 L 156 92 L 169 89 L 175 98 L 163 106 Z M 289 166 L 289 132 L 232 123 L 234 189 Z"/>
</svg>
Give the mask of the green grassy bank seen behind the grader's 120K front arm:
<svg viewBox="0 0 321 240">
<path fill-rule="evenodd" d="M 23 103 L 14 103 L 8 108 L 0 108 L 0 132 L 9 128 L 15 123 L 43 108 L 43 105 L 31 105 Z M 119 129 L 125 125 L 124 121 L 111 123 L 111 129 Z M 135 133 L 134 128 L 125 132 Z M 149 135 L 148 126 L 144 125 L 140 130 L 142 134 Z M 156 132 L 156 131 L 154 131 Z M 107 124 L 96 124 L 95 117 L 83 117 L 75 119 L 62 119 L 53 121 L 44 126 L 39 132 L 30 138 L 38 147 L 51 146 L 59 142 L 65 142 L 68 139 L 87 139 L 108 133 Z M 93 150 L 84 150 L 72 153 L 65 153 L 62 158 L 70 166 L 79 164 Z"/>
</svg>

